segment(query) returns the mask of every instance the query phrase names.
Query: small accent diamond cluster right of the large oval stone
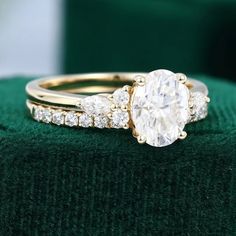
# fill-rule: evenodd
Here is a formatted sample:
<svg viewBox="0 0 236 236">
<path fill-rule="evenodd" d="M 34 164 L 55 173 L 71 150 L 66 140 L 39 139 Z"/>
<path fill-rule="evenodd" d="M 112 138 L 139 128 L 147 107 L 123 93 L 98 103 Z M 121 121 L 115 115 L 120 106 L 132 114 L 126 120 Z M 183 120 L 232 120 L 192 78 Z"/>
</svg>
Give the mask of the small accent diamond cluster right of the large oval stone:
<svg viewBox="0 0 236 236">
<path fill-rule="evenodd" d="M 201 92 L 194 92 L 192 93 L 191 101 L 193 103 L 193 116 L 191 118 L 191 121 L 198 121 L 204 119 L 207 116 L 208 110 L 206 96 Z"/>
</svg>

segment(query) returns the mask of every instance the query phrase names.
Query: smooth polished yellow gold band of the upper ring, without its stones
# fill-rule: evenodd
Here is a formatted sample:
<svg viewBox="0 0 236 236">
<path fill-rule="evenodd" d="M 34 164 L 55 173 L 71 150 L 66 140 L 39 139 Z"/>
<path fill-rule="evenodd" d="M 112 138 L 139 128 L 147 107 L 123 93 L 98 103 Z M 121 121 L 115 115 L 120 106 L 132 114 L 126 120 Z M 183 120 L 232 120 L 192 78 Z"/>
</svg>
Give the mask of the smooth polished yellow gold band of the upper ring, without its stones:
<svg viewBox="0 0 236 236">
<path fill-rule="evenodd" d="M 101 94 L 109 96 L 121 83 L 132 84 L 137 75 L 146 76 L 146 73 L 91 73 L 78 75 L 63 75 L 55 77 L 40 78 L 31 81 L 26 86 L 26 92 L 29 100 L 62 107 L 74 107 L 78 102 L 87 97 L 87 94 Z M 189 88 L 192 90 L 201 90 L 207 96 L 206 86 L 197 80 L 189 80 Z M 110 85 L 89 85 L 80 87 L 80 84 L 88 82 L 110 82 Z M 77 87 L 66 89 L 55 89 L 63 85 L 75 84 Z M 117 84 L 114 86 L 114 84 Z"/>
</svg>

